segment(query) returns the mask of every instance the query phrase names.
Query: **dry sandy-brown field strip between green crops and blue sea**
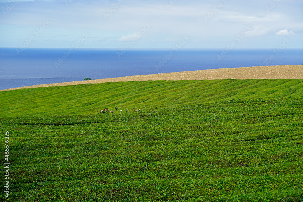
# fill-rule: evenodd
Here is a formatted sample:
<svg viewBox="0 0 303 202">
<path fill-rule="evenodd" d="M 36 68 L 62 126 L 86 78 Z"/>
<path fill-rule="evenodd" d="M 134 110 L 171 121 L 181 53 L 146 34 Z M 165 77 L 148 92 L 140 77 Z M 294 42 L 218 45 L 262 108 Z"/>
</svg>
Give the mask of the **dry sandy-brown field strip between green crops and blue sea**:
<svg viewBox="0 0 303 202">
<path fill-rule="evenodd" d="M 106 82 L 119 81 L 150 81 L 150 80 L 203 80 L 203 79 L 303 79 L 303 65 L 281 65 L 281 66 L 261 66 L 261 67 L 239 67 L 239 68 L 223 68 L 208 69 L 198 71 L 182 71 L 173 73 L 162 73 L 152 75 L 126 76 L 117 78 L 104 78 L 89 81 L 73 81 L 55 84 L 42 84 L 34 86 L 25 86 L 18 88 L 10 88 L 7 90 L 15 90 L 22 88 L 38 88 L 49 86 L 67 86 L 78 84 L 98 84 Z"/>
</svg>

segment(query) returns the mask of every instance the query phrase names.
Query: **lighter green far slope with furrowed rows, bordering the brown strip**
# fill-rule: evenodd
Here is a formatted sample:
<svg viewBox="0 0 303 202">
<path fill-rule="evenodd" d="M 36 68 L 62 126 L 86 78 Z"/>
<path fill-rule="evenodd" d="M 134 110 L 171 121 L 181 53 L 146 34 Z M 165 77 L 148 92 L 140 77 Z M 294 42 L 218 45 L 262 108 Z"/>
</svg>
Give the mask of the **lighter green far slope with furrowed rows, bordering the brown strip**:
<svg viewBox="0 0 303 202">
<path fill-rule="evenodd" d="M 143 81 L 2 91 L 5 114 L 92 114 L 100 107 L 168 107 L 240 98 L 276 99 L 303 94 L 302 80 Z M 3 114 L 3 113 L 2 113 Z"/>
</svg>

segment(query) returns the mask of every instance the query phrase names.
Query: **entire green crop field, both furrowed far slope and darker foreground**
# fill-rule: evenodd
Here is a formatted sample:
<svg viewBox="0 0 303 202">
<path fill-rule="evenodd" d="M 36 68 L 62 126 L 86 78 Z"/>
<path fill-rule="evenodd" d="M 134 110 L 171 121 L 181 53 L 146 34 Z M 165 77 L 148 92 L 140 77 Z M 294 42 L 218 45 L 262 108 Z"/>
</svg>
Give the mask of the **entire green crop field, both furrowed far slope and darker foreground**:
<svg viewBox="0 0 303 202">
<path fill-rule="evenodd" d="M 10 201 L 303 200 L 302 81 L 1 91 Z"/>
</svg>

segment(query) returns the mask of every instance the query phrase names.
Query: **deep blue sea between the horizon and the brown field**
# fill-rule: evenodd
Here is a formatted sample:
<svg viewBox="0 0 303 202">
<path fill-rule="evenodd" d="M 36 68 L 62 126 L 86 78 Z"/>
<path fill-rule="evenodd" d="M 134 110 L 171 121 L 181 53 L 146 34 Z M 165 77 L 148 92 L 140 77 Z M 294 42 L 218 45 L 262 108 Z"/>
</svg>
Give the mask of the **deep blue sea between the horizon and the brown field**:
<svg viewBox="0 0 303 202">
<path fill-rule="evenodd" d="M 301 65 L 303 49 L 235 49 L 218 59 L 223 49 L 120 50 L 0 48 L 0 90 L 84 78 L 101 79 L 132 75 L 261 65 Z M 171 56 L 169 54 L 171 53 Z M 270 59 L 270 56 L 274 56 Z M 166 57 L 165 57 L 166 56 Z M 61 58 L 61 59 L 60 59 Z M 270 61 L 271 60 L 271 61 Z M 163 63 L 162 63 L 163 62 Z M 158 65 L 158 66 L 157 66 Z"/>
</svg>

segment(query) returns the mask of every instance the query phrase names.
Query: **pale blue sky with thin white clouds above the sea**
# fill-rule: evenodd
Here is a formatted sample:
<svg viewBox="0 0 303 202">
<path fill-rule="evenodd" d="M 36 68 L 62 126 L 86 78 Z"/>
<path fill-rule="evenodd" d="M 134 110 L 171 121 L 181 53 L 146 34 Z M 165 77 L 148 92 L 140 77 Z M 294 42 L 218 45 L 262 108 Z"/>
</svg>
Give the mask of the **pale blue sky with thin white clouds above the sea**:
<svg viewBox="0 0 303 202">
<path fill-rule="evenodd" d="M 0 0 L 0 11 L 0 47 L 303 48 L 302 0 Z"/>
</svg>

